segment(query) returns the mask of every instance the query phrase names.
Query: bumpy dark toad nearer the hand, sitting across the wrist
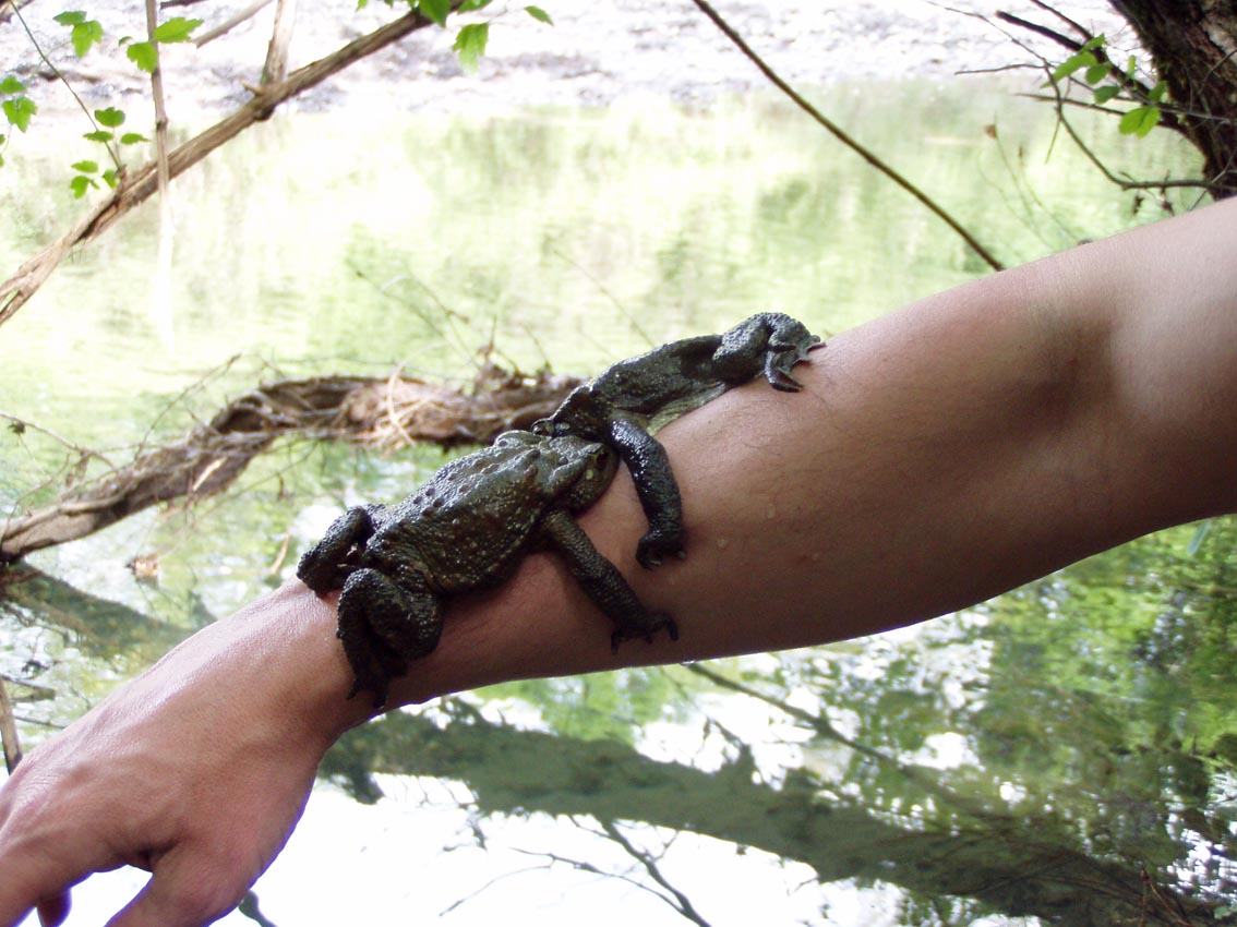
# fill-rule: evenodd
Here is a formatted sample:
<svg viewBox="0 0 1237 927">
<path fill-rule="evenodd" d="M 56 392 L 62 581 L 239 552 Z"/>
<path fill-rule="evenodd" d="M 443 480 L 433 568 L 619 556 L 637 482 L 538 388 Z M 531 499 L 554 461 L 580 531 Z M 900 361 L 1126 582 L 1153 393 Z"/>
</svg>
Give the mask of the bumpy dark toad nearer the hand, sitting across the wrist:
<svg viewBox="0 0 1237 927">
<path fill-rule="evenodd" d="M 367 690 L 381 707 L 390 680 L 437 646 L 444 598 L 502 583 L 538 548 L 558 551 L 615 623 L 614 646 L 663 628 L 677 639 L 674 622 L 644 608 L 571 517 L 601 496 L 616 466 L 594 441 L 507 431 L 400 504 L 340 515 L 297 576 L 319 593 L 343 587 L 338 637 L 355 677 L 349 697 Z"/>
</svg>

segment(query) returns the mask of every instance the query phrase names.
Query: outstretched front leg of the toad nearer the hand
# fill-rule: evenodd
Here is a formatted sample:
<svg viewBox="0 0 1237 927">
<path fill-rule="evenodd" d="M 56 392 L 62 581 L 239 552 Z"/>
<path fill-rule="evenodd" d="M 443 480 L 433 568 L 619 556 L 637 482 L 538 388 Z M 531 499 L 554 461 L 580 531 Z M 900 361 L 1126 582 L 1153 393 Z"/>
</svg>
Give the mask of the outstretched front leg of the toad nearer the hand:
<svg viewBox="0 0 1237 927">
<path fill-rule="evenodd" d="M 652 641 L 653 634 L 662 628 L 666 628 L 670 640 L 679 639 L 674 619 L 644 608 L 618 567 L 597 552 L 589 535 L 569 513 L 562 509 L 549 512 L 542 519 L 542 530 L 567 560 L 571 576 L 584 592 L 615 623 L 615 632 L 610 635 L 614 649 L 617 650 L 618 644 L 633 638 Z"/>
</svg>

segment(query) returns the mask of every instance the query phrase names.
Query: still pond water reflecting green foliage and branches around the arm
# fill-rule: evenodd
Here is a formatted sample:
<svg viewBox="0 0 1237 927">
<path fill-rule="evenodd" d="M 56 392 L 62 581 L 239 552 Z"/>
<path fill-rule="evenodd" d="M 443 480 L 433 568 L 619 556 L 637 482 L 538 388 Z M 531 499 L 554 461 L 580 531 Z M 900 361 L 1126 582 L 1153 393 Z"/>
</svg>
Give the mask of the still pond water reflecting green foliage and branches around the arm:
<svg viewBox="0 0 1237 927">
<path fill-rule="evenodd" d="M 819 101 L 1009 265 L 1162 214 L 1008 87 L 870 83 Z M 1133 176 L 1192 164 L 1173 140 L 1081 127 Z M 37 150 L 32 132 L 7 153 L 5 268 L 82 211 L 67 192 L 78 135 L 47 127 Z M 280 115 L 179 179 L 176 208 L 171 313 L 147 308 L 157 216 L 143 209 L 0 329 L 0 412 L 124 461 L 261 379 L 402 367 L 466 381 L 491 339 L 523 370 L 586 375 L 761 309 L 839 331 L 986 272 L 769 96 Z M 343 504 L 397 498 L 442 459 L 283 445 L 225 497 L 31 556 L 40 575 L 0 603 L 0 672 L 27 744 L 287 577 Z M 49 498 L 75 456 L 27 426 L 4 433 L 0 461 L 16 512 Z M 262 912 L 1231 920 L 1237 525 L 1200 534 L 1165 531 L 878 638 L 388 716 L 330 754 L 257 885 Z M 142 554 L 158 556 L 153 582 L 125 566 Z M 71 923 L 100 922 L 142 878 L 92 881 Z"/>
</svg>

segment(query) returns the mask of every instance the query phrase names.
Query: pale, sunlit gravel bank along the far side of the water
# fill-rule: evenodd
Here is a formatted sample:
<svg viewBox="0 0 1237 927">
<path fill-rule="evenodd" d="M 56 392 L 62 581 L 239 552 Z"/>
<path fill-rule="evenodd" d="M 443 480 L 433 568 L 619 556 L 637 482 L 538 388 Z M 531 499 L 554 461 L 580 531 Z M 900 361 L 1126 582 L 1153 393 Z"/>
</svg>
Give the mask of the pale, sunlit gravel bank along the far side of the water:
<svg viewBox="0 0 1237 927">
<path fill-rule="evenodd" d="M 205 19 L 210 28 L 249 5 L 218 0 L 172 9 Z M 465 77 L 450 49 L 455 27 L 416 33 L 397 47 L 360 62 L 303 95 L 303 109 L 397 105 L 416 110 L 502 110 L 528 104 L 609 105 L 641 94 L 706 105 L 719 94 L 764 87 L 761 74 L 689 0 L 543 0 L 554 26 L 534 21 L 518 4 L 497 0 L 484 11 L 494 20 L 490 48 L 477 74 Z M 997 9 L 1051 22 L 1029 2 L 959 0 L 715 0 L 717 10 L 784 78 L 805 88 L 845 80 L 945 78 L 960 70 L 998 69 L 1032 61 L 1007 36 L 977 15 Z M 52 17 L 80 6 L 98 19 L 108 38 L 78 61 L 68 30 Z M 1124 21 L 1100 0 L 1060 2 L 1063 12 L 1110 38 L 1128 37 Z M 167 94 L 173 119 L 190 110 L 221 111 L 246 98 L 242 80 L 255 80 L 268 41 L 273 6 L 202 48 L 168 46 Z M 350 0 L 299 0 L 291 67 L 338 48 L 390 20 L 400 10 L 372 0 L 354 10 Z M 141 36 L 141 5 L 127 0 L 36 0 L 25 17 L 57 67 L 88 105 L 135 105 L 145 98 L 143 75 L 125 58 L 119 37 Z M 1059 25 L 1059 23 L 1054 23 Z M 1021 38 L 1033 37 L 1022 35 Z M 1056 58 L 1063 52 L 1039 43 Z M 56 82 L 38 80 L 38 62 L 21 26 L 0 26 L 0 61 L 7 73 L 31 79 L 41 112 L 73 108 Z M 35 84 L 38 84 L 35 87 Z M 119 99 L 119 101 L 118 101 Z"/>
</svg>

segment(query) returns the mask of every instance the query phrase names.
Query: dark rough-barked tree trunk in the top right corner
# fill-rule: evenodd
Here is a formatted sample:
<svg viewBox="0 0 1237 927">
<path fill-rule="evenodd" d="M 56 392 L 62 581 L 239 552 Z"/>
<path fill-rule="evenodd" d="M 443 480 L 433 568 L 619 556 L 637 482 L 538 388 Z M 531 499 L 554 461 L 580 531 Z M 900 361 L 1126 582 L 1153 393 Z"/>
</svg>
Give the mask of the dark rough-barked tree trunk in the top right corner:
<svg viewBox="0 0 1237 927">
<path fill-rule="evenodd" d="M 1181 108 L 1206 178 L 1237 193 L 1237 5 L 1231 0 L 1111 0 L 1129 20 Z"/>
</svg>

